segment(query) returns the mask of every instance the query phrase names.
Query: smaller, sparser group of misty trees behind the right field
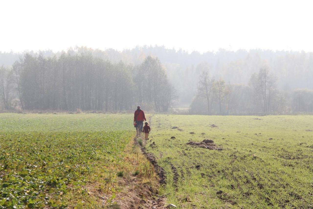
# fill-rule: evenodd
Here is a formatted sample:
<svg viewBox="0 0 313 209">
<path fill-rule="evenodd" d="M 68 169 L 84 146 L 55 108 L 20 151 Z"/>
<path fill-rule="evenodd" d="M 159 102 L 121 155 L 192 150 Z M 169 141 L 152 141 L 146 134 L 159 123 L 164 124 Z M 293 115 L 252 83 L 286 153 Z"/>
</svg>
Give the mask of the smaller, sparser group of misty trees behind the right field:
<svg viewBox="0 0 313 209">
<path fill-rule="evenodd" d="M 313 90 L 277 88 L 268 67 L 252 74 L 249 85 L 215 80 L 208 71 L 199 77 L 197 95 L 188 113 L 205 115 L 295 114 L 313 112 Z"/>
</svg>

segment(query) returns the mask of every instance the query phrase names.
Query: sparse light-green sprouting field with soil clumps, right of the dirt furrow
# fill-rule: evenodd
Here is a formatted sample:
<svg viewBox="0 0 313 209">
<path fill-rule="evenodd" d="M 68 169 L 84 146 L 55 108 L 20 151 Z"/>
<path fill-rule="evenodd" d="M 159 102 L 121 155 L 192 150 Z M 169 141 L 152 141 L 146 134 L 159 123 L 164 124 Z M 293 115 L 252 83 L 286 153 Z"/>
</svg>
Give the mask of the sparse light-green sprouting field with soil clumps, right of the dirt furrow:
<svg viewBox="0 0 313 209">
<path fill-rule="evenodd" d="M 161 194 L 168 203 L 181 208 L 313 207 L 313 132 L 306 131 L 313 129 L 313 116 L 154 115 L 151 127 L 146 148 L 167 173 Z M 223 150 L 186 145 L 205 138 Z"/>
</svg>

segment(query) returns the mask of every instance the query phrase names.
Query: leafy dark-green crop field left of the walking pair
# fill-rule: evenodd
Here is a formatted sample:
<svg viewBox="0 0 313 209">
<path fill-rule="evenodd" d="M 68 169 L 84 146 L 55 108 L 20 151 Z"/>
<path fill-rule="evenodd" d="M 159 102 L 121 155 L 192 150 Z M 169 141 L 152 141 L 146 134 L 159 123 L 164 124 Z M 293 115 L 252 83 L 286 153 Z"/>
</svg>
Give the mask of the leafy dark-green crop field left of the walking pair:
<svg viewBox="0 0 313 209">
<path fill-rule="evenodd" d="M 0 127 L 0 208 L 97 205 L 134 135 L 121 114 L 0 114 Z"/>
</svg>

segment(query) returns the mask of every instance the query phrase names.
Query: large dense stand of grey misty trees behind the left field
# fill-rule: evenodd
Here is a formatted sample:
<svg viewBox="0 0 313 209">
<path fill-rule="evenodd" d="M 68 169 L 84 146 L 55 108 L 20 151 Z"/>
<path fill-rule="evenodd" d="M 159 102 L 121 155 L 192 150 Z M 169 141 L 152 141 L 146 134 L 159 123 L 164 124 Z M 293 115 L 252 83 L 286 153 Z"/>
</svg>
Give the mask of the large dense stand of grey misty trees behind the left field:
<svg viewBox="0 0 313 209">
<path fill-rule="evenodd" d="M 133 66 L 91 53 L 25 54 L 12 67 L 1 67 L 0 91 L 6 110 L 122 111 L 142 105 L 166 112 L 176 99 L 157 58 Z"/>
</svg>

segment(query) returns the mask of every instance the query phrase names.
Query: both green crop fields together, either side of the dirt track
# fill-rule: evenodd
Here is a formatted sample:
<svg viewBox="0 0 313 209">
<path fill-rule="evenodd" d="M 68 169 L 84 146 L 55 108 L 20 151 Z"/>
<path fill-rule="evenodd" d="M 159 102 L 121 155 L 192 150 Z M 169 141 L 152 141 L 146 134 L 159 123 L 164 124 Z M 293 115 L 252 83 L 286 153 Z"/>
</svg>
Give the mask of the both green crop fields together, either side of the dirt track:
<svg viewBox="0 0 313 209">
<path fill-rule="evenodd" d="M 128 146 L 135 134 L 132 117 L 0 114 L 0 208 L 100 207 L 114 201 L 123 190 L 121 179 L 131 182 L 133 171 L 145 173 L 141 182 L 149 184 L 151 166 L 138 153 L 127 153 L 133 150 Z M 313 207 L 313 116 L 150 119 L 144 146 L 166 171 L 159 192 L 167 203 L 179 208 Z M 223 150 L 186 144 L 203 139 Z"/>
</svg>

